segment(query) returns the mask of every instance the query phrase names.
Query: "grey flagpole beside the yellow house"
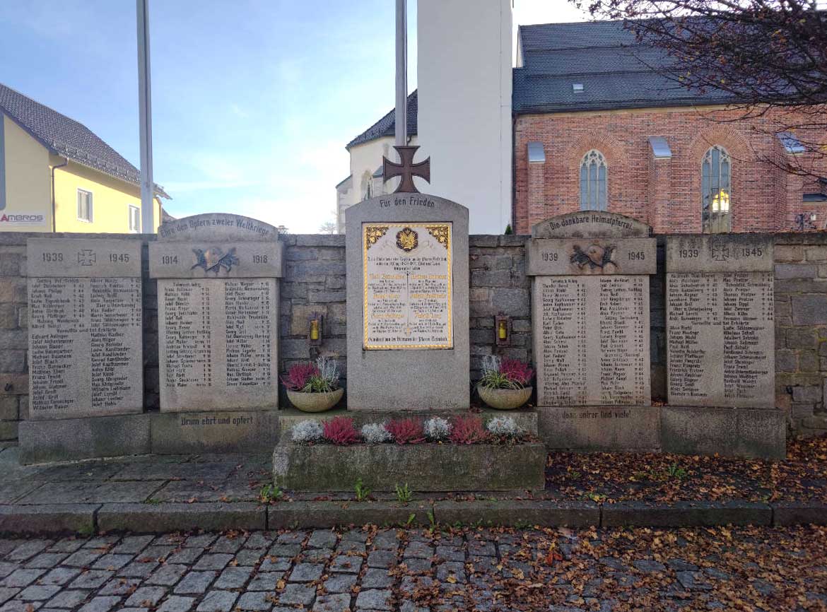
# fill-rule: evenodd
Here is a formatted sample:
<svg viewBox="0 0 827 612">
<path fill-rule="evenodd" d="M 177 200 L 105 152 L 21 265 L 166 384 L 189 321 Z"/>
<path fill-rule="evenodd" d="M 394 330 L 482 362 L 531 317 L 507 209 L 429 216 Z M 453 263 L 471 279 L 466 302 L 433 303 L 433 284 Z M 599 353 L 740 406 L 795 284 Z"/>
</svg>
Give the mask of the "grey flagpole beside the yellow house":
<svg viewBox="0 0 827 612">
<path fill-rule="evenodd" d="M 152 88 L 150 82 L 149 0 L 136 0 L 138 26 L 138 123 L 141 130 L 141 232 L 155 233 L 152 180 Z M 158 212 L 160 215 L 160 210 Z M 160 223 L 160 218 L 158 219 Z"/>
</svg>

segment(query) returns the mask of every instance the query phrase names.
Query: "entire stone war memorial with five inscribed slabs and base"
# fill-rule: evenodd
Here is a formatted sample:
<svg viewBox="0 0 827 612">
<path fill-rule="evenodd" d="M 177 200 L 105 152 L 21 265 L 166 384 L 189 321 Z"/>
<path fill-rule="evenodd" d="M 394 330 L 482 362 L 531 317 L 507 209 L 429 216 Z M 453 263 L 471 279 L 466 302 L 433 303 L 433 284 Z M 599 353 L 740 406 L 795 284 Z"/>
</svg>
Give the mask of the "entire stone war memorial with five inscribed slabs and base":
<svg viewBox="0 0 827 612">
<path fill-rule="evenodd" d="M 784 456 L 771 237 L 664 240 L 598 212 L 547 219 L 527 240 L 467 227 L 461 204 L 397 192 L 354 207 L 344 245 L 231 214 L 166 223 L 146 245 L 28 239 L 22 461 L 276 449 L 287 488 L 327 490 L 339 472 L 349 488 L 358 471 L 402 462 L 438 465 L 434 490 L 465 490 L 485 489 L 486 477 L 505 486 L 520 470 L 533 473 L 516 488 L 542 489 L 543 447 Z M 482 274 L 474 241 L 523 252 L 524 267 L 504 270 L 521 275 L 516 288 Z M 496 312 L 480 317 L 485 293 Z M 655 364 L 659 336 L 666 358 Z M 318 357 L 337 372 L 327 391 L 343 391 L 330 413 L 299 412 L 284 376 Z M 308 419 L 361 427 L 470 414 L 484 405 L 472 371 L 479 380 L 486 358 L 536 371 L 533 392 L 519 385 L 527 406 L 501 413 L 533 441 L 510 447 L 514 460 L 485 445 L 425 444 L 404 458 L 362 445 L 351 458 L 291 441 Z"/>
</svg>

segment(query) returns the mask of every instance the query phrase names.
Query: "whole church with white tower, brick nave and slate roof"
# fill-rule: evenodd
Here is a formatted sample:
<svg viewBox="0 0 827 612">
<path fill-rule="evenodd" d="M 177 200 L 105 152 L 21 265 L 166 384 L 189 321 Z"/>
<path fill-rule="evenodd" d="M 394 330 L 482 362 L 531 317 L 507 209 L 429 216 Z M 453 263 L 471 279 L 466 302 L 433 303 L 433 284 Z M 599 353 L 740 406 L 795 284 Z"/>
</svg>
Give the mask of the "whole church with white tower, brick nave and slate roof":
<svg viewBox="0 0 827 612">
<path fill-rule="evenodd" d="M 530 233 L 577 210 L 664 233 L 825 228 L 827 162 L 816 161 L 822 179 L 782 170 L 808 155 L 805 134 L 783 131 L 795 121 L 782 111 L 744 118 L 721 93 L 679 86 L 653 68 L 667 55 L 622 22 L 521 26 L 512 62 L 510 1 L 472 26 L 445 18 L 468 2 L 420 0 L 408 122 L 432 158 L 435 180 L 420 189 L 471 208 L 472 232 Z M 430 43 L 445 40 L 447 22 L 468 45 L 437 53 Z M 381 179 L 393 135 L 390 112 L 348 144 L 342 226 L 348 205 L 393 191 Z"/>
</svg>

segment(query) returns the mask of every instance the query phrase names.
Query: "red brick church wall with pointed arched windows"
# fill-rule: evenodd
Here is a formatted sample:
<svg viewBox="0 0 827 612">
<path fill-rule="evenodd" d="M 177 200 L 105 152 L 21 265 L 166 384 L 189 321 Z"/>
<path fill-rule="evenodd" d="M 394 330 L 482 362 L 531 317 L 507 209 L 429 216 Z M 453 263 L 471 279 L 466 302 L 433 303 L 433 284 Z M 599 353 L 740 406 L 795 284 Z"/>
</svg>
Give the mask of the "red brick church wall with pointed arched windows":
<svg viewBox="0 0 827 612">
<path fill-rule="evenodd" d="M 825 227 L 824 185 L 779 168 L 786 156 L 796 154 L 762 131 L 767 117 L 740 117 L 739 111 L 703 107 L 518 115 L 515 232 L 530 233 L 534 223 L 554 215 L 604 207 L 638 218 L 657 233 L 784 232 L 796 227 L 801 213 L 808 221 L 815 213 L 813 224 Z M 538 145 L 545 155 L 531 159 L 529 148 L 539 150 Z M 703 178 L 705 157 L 715 148 L 729 158 L 729 185 L 719 179 L 718 189 L 715 181 L 705 187 Z M 593 151 L 605 172 L 605 181 L 596 181 L 598 191 L 605 189 L 605 202 L 581 197 L 595 183 L 587 178 L 584 189 L 581 181 Z M 827 168 L 822 170 L 827 176 Z M 722 196 L 717 203 L 715 194 Z M 719 219 L 705 224 L 707 202 L 706 208 L 718 208 L 710 216 L 717 213 Z"/>
</svg>

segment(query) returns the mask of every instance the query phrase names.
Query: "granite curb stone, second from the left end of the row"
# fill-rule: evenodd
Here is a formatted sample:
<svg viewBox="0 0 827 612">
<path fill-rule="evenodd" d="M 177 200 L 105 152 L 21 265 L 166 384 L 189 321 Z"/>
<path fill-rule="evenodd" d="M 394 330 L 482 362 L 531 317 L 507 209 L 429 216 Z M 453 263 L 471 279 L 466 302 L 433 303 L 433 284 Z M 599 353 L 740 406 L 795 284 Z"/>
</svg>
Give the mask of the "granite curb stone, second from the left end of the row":
<svg viewBox="0 0 827 612">
<path fill-rule="evenodd" d="M 98 510 L 98 531 L 169 533 L 266 529 L 267 511 L 253 502 L 195 504 L 103 504 Z"/>
</svg>

